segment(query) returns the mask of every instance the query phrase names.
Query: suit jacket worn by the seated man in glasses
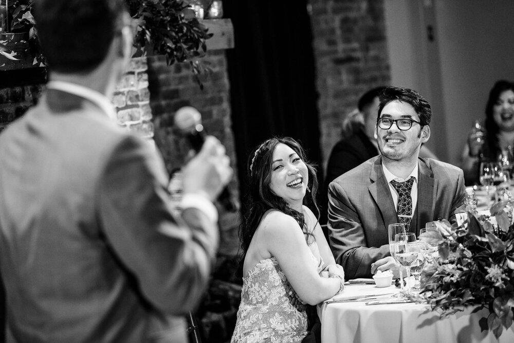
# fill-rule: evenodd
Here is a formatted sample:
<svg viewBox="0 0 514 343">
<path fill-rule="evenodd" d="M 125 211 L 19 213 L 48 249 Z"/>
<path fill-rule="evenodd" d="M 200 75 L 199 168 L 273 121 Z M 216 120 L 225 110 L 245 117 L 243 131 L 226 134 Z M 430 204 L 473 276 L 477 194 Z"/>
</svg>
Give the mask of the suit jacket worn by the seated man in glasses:
<svg viewBox="0 0 514 343">
<path fill-rule="evenodd" d="M 371 277 L 371 264 L 389 256 L 388 226 L 398 223 L 381 156 L 336 178 L 328 190 L 328 234 L 336 262 L 346 279 Z M 418 198 L 411 232 L 430 221 L 454 220 L 464 211 L 460 168 L 434 159 L 418 159 Z"/>
</svg>

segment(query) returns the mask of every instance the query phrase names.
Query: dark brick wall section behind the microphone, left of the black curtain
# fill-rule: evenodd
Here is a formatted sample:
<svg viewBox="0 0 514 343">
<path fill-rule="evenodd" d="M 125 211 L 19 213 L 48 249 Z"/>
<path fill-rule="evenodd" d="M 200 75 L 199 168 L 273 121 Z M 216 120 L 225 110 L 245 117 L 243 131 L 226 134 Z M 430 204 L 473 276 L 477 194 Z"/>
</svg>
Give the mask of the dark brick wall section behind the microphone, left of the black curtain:
<svg viewBox="0 0 514 343">
<path fill-rule="evenodd" d="M 217 137 L 227 149 L 231 166 L 235 168 L 235 149 L 230 119 L 229 81 L 224 50 L 209 51 L 203 58 L 211 69 L 201 77 L 200 89 L 191 73 L 189 63 L 166 64 L 163 56 L 148 59 L 150 106 L 154 117 L 154 139 L 163 155 L 169 172 L 179 168 L 189 146 L 173 127 L 174 112 L 181 106 L 191 105 L 201 113 L 208 134 Z M 234 171 L 234 175 L 235 175 Z M 238 200 L 238 181 L 234 177 L 229 185 L 231 194 Z M 221 243 L 223 255 L 235 255 L 239 247 L 237 229 L 238 213 L 220 208 Z"/>
</svg>

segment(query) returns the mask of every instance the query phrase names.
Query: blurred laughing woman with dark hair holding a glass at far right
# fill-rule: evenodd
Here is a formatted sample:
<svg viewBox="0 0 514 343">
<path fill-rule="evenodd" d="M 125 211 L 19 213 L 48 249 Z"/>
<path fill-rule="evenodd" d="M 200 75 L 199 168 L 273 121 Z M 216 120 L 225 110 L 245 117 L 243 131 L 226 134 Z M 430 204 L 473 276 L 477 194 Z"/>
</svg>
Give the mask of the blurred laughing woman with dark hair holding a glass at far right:
<svg viewBox="0 0 514 343">
<path fill-rule="evenodd" d="M 496 161 L 514 147 L 514 83 L 494 83 L 485 106 L 485 139 L 471 131 L 462 152 L 462 169 L 467 185 L 479 184 L 480 161 Z"/>
</svg>

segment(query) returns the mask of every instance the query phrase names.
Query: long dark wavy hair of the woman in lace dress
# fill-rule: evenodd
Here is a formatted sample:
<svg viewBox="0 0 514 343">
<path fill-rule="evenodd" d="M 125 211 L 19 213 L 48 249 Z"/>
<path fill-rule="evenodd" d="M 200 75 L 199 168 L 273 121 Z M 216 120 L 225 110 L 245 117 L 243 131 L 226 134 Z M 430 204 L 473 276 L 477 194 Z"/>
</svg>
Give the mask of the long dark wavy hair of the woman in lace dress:
<svg viewBox="0 0 514 343">
<path fill-rule="evenodd" d="M 273 152 L 279 143 L 283 143 L 295 151 L 307 166 L 309 175 L 307 186 L 310 192 L 307 192 L 303 197 L 303 204 L 313 204 L 316 207 L 319 217 L 319 208 L 316 203 L 316 191 L 318 190 L 316 167 L 314 164 L 307 161 L 303 148 L 296 140 L 290 137 L 273 137 L 264 141 L 260 146 L 255 148 L 248 157 L 248 193 L 242 208 L 243 220 L 239 231 L 239 238 L 243 249 L 241 263 L 244 261 L 253 234 L 259 226 L 262 216 L 269 209 L 276 209 L 292 216 L 302 228 L 306 236 L 305 240 L 307 244 L 309 244 L 310 237 L 314 238 L 314 227 L 310 229 L 307 228 L 303 213 L 290 208 L 287 202 L 282 197 L 273 194 L 269 187 L 271 183 Z M 314 240 L 312 240 L 310 244 L 313 242 Z"/>
</svg>

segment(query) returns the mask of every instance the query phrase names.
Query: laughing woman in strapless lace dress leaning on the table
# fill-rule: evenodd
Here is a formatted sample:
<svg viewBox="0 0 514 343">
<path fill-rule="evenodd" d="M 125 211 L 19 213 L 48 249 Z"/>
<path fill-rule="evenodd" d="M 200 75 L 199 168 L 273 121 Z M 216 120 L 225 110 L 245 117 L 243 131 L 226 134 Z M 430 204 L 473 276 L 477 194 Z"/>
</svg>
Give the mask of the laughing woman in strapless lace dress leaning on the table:
<svg viewBox="0 0 514 343">
<path fill-rule="evenodd" d="M 344 283 L 316 216 L 304 205 L 308 198 L 316 206 L 316 170 L 297 141 L 271 138 L 250 155 L 248 183 L 240 232 L 243 290 L 231 342 L 300 342 L 307 335 L 305 303 L 332 298 Z"/>
</svg>

